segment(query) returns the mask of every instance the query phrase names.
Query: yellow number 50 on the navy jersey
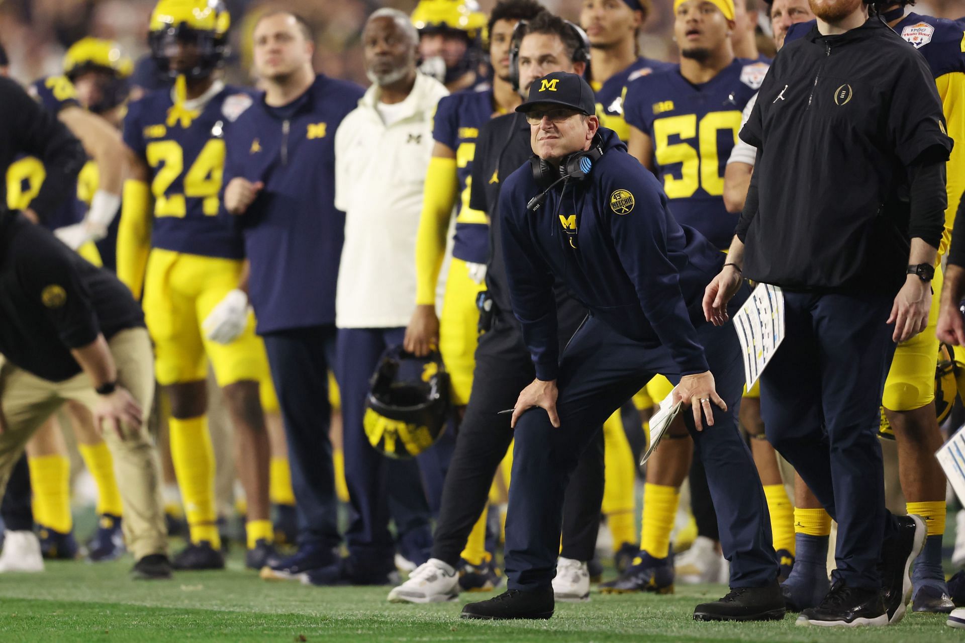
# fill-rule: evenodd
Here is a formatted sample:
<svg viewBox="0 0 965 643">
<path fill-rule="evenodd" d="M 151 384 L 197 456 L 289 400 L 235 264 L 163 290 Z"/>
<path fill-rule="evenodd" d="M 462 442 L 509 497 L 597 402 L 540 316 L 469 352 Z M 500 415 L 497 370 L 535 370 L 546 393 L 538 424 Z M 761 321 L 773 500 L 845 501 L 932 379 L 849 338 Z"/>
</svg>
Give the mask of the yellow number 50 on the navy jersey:
<svg viewBox="0 0 965 643">
<path fill-rule="evenodd" d="M 720 174 L 717 150 L 717 133 L 730 129 L 733 143 L 737 142 L 740 128 L 740 112 L 710 112 L 697 122 L 696 114 L 670 116 L 653 122 L 654 158 L 664 168 L 664 191 L 668 199 L 686 199 L 693 196 L 698 187 L 710 196 L 724 194 L 724 177 Z M 671 143 L 671 136 L 679 136 L 680 143 Z M 684 143 L 697 137 L 698 147 Z M 731 146 L 733 145 L 731 143 Z M 700 150 L 700 152 L 698 152 Z M 730 150 L 728 151 L 730 154 Z M 680 178 L 666 170 L 674 163 L 680 164 Z"/>
</svg>

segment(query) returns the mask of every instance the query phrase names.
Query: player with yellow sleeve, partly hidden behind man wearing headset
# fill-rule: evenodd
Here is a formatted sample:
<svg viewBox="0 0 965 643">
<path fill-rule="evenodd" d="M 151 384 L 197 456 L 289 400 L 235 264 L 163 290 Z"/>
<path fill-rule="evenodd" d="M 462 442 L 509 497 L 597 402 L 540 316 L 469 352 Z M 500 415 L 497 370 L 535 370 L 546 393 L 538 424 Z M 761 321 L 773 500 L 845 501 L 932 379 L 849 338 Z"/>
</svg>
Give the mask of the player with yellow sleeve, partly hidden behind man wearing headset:
<svg viewBox="0 0 965 643">
<path fill-rule="evenodd" d="M 483 279 L 489 256 L 485 212 L 469 207 L 476 139 L 480 127 L 490 118 L 511 112 L 519 104 L 520 97 L 510 83 L 512 31 L 519 20 L 532 20 L 540 11 L 542 7 L 535 0 L 503 0 L 497 4 L 488 22 L 492 86 L 444 97 L 435 112 L 435 144 L 416 242 L 416 310 L 406 329 L 404 346 L 422 356 L 431 346 L 438 345 L 452 381 L 452 399 L 459 407 L 468 404 L 472 389 L 480 315 L 476 297 L 485 290 Z M 453 261 L 440 319 L 435 311 L 436 285 L 454 211 Z M 460 582 L 466 590 L 491 587 L 493 582 L 490 554 L 484 543 L 485 520 L 483 512 L 462 552 Z"/>
</svg>

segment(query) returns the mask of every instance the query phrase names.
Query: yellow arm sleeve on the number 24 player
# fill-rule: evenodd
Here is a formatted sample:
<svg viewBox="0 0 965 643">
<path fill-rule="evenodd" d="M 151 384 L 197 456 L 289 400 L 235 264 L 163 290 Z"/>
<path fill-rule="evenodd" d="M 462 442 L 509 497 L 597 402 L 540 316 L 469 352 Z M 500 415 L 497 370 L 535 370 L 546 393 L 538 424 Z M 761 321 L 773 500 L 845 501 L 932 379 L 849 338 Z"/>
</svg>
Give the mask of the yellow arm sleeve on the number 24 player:
<svg viewBox="0 0 965 643">
<path fill-rule="evenodd" d="M 135 299 L 141 298 L 150 251 L 151 192 L 148 183 L 127 180 L 124 182 L 124 201 L 118 227 L 117 269 L 118 278 L 130 289 Z"/>
</svg>

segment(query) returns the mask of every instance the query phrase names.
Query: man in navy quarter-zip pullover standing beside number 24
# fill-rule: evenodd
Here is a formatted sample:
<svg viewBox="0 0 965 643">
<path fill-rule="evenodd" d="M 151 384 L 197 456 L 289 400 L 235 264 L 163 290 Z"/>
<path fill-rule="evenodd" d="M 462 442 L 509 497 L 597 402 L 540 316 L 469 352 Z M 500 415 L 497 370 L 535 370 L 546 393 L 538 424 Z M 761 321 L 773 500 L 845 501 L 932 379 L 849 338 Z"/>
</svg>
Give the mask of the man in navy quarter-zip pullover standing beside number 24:
<svg viewBox="0 0 965 643">
<path fill-rule="evenodd" d="M 224 204 L 244 232 L 248 294 L 285 416 L 298 515 L 297 553 L 262 577 L 290 578 L 338 562 L 328 369 L 345 214 L 335 209 L 334 141 L 363 92 L 312 70 L 312 31 L 295 14 L 262 15 L 253 38 L 265 94 L 225 135 Z"/>
</svg>

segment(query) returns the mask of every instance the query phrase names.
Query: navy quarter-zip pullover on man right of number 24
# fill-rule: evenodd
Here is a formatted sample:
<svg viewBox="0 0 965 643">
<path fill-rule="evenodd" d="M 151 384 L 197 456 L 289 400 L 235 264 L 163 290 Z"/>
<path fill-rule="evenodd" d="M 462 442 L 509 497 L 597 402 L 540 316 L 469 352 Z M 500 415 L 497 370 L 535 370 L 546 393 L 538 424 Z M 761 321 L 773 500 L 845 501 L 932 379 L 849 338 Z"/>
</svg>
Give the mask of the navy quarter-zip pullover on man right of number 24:
<svg viewBox="0 0 965 643">
<path fill-rule="evenodd" d="M 288 105 L 263 95 L 226 134 L 224 185 L 263 182 L 240 216 L 259 334 L 335 322 L 345 212 L 335 208 L 335 130 L 364 91 L 318 74 Z"/>
</svg>

